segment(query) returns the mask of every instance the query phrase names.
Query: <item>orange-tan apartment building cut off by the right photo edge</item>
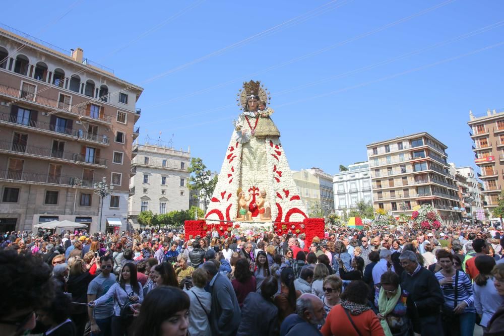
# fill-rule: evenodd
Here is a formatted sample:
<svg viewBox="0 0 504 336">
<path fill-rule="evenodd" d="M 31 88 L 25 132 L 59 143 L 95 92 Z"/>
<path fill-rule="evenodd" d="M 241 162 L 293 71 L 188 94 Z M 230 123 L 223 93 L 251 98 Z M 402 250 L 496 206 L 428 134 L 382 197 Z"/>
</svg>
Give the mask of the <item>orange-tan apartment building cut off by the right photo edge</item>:
<svg viewBox="0 0 504 336">
<path fill-rule="evenodd" d="M 484 208 L 491 215 L 504 178 L 504 112 L 487 110 L 486 115 L 475 117 L 469 111 L 467 124 L 471 127 L 469 136 L 474 141 L 474 163 L 481 171 L 477 176 L 484 183 Z"/>
</svg>

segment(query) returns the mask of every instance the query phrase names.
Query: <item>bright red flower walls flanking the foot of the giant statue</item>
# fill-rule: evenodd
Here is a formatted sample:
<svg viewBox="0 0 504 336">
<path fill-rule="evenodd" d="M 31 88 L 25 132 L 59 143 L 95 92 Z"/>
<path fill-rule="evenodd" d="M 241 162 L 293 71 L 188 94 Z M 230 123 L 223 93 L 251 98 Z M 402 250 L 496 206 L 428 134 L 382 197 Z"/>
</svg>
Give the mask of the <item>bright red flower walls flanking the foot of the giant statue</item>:
<svg viewBox="0 0 504 336">
<path fill-rule="evenodd" d="M 224 236 L 228 229 L 233 227 L 232 223 L 219 224 L 219 222 L 206 221 L 185 221 L 185 237 L 188 239 L 190 235 L 195 238 L 196 236 L 204 237 L 208 231 L 216 229 L 219 236 Z M 323 218 L 305 218 L 302 222 L 277 222 L 274 223 L 276 228 L 274 231 L 278 235 L 287 234 L 290 232 L 295 232 L 296 234 L 304 233 L 306 236 L 306 243 L 311 244 L 313 237 L 317 236 L 321 239 L 324 238 L 324 219 Z M 294 226 L 294 228 L 292 228 Z M 204 230 L 203 227 L 206 229 Z M 239 228 L 239 225 L 236 225 Z"/>
</svg>

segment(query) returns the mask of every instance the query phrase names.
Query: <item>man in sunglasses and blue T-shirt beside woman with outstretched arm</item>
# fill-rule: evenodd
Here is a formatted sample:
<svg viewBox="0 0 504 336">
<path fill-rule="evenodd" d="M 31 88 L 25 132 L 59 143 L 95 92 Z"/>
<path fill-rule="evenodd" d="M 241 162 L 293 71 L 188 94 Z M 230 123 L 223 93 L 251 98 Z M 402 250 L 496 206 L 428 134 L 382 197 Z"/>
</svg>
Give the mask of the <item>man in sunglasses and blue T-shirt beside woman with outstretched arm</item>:
<svg viewBox="0 0 504 336">
<path fill-rule="evenodd" d="M 110 255 L 104 255 L 100 258 L 101 273 L 89 283 L 88 302 L 101 297 L 115 283 L 115 275 L 112 273 L 112 263 L 113 261 Z M 96 308 L 88 307 L 89 321 L 91 322 L 91 335 L 109 335 L 111 332 L 110 323 L 113 313 L 113 299 L 110 299 L 106 304 Z"/>
</svg>

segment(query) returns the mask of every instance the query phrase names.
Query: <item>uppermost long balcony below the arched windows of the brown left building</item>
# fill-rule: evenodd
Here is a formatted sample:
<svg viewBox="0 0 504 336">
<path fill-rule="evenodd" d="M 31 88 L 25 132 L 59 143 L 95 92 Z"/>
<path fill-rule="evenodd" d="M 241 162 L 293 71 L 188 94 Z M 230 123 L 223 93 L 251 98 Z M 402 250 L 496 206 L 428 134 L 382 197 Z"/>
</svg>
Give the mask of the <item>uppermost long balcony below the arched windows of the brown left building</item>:
<svg viewBox="0 0 504 336">
<path fill-rule="evenodd" d="M 56 110 L 56 112 L 68 113 L 79 118 L 85 118 L 88 120 L 104 122 L 110 125 L 110 121 L 102 118 L 94 118 L 86 115 L 86 106 L 71 106 L 69 104 L 64 104 L 60 101 L 44 97 L 43 95 L 35 92 L 35 94 L 26 93 L 16 88 L 12 88 L 3 84 L 0 84 L 0 94 L 14 98 L 15 100 L 21 100 L 25 103 L 31 105 L 43 106 L 49 109 Z"/>
</svg>

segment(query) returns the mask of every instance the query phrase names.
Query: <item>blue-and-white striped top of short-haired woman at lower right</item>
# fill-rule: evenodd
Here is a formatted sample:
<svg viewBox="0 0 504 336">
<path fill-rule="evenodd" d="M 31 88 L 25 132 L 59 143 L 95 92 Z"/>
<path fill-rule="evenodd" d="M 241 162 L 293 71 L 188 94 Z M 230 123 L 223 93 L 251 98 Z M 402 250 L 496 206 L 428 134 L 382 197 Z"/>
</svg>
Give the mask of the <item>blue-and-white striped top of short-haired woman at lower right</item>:
<svg viewBox="0 0 504 336">
<path fill-rule="evenodd" d="M 472 290 L 471 279 L 462 271 L 458 272 L 459 280 L 457 284 L 457 305 L 460 302 L 464 301 L 467 303 L 467 307 L 464 309 L 464 313 L 468 312 L 476 312 L 474 308 L 474 294 Z M 434 274 L 437 281 L 442 281 L 445 279 L 445 276 L 441 273 L 441 271 Z M 454 308 L 455 301 L 455 274 L 452 276 L 453 283 L 441 286 L 441 290 L 443 291 L 443 296 L 445 297 L 445 307 L 449 307 L 451 309 Z"/>
</svg>

